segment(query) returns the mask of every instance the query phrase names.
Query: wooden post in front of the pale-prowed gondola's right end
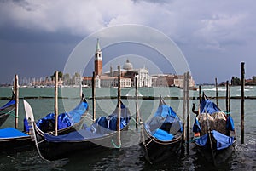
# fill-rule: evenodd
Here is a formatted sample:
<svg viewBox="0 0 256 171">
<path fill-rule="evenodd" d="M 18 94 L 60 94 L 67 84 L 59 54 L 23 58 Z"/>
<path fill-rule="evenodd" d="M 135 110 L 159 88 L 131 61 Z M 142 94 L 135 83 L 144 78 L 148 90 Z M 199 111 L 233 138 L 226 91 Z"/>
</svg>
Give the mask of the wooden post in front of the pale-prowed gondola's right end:
<svg viewBox="0 0 256 171">
<path fill-rule="evenodd" d="M 118 118 L 117 118 L 117 132 L 118 132 L 118 146 L 121 145 L 121 131 L 120 131 L 120 117 L 121 117 L 121 67 L 118 66 Z"/>
</svg>

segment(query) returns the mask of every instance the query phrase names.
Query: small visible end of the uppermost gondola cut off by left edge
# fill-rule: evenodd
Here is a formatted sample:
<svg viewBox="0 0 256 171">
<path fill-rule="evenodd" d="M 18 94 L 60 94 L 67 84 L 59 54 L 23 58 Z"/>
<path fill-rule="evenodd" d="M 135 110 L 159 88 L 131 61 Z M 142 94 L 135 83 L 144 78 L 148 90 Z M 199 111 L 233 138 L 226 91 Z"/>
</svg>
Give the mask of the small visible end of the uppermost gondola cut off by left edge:
<svg viewBox="0 0 256 171">
<path fill-rule="evenodd" d="M 6 119 L 15 112 L 15 93 L 13 92 L 11 100 L 8 103 L 0 107 L 0 127 L 6 121 Z"/>
</svg>

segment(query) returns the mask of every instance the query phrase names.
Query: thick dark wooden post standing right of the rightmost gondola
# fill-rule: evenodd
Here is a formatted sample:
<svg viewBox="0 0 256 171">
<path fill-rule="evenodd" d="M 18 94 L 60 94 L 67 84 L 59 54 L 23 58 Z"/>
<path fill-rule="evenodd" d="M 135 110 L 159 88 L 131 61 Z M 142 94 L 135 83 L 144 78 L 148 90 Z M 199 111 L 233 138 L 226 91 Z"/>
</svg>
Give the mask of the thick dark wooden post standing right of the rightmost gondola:
<svg viewBox="0 0 256 171">
<path fill-rule="evenodd" d="M 244 144 L 244 87 L 245 87 L 244 62 L 241 62 L 241 144 Z"/>
</svg>

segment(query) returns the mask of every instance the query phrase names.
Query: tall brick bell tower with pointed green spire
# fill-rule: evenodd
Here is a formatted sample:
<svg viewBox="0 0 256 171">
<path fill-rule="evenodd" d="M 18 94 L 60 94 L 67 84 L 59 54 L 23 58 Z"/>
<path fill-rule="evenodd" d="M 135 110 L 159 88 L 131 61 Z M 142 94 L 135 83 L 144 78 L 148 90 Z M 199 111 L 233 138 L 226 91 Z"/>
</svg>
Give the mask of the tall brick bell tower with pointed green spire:
<svg viewBox="0 0 256 171">
<path fill-rule="evenodd" d="M 94 71 L 96 76 L 102 75 L 102 50 L 100 48 L 99 39 L 97 38 L 96 51 L 94 57 Z"/>
</svg>

